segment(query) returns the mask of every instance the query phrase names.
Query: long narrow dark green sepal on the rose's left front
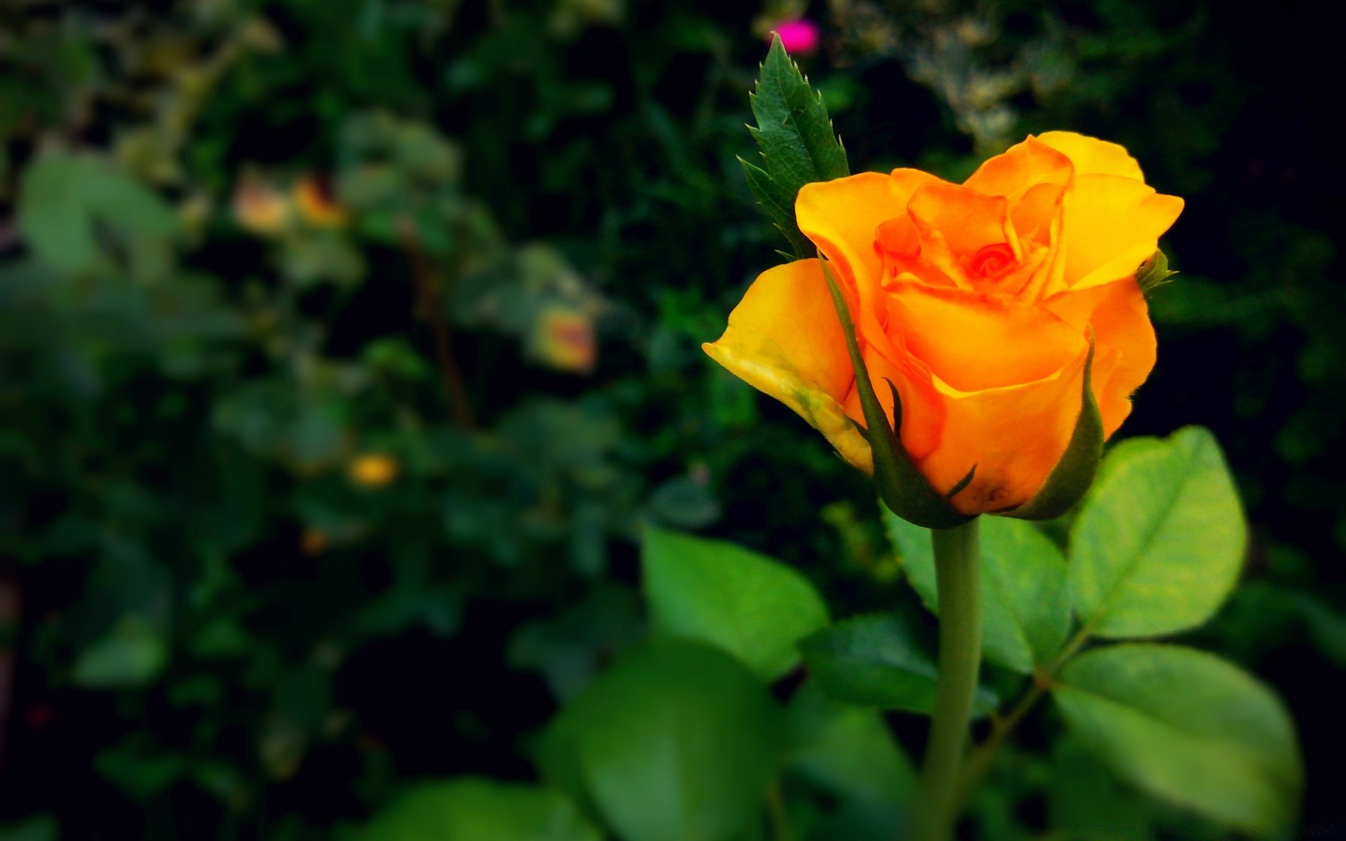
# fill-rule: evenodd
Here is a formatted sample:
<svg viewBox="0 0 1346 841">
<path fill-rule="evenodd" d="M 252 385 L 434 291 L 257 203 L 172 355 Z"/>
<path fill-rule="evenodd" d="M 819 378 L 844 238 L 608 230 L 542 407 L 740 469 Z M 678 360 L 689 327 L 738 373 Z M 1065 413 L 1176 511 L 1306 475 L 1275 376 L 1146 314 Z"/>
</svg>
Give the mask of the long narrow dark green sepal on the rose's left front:
<svg viewBox="0 0 1346 841">
<path fill-rule="evenodd" d="M 879 497 L 894 514 L 926 529 L 952 529 L 968 522 L 972 517 L 949 505 L 949 499 L 972 482 L 972 475 L 977 470 L 976 464 L 945 497 L 930 487 L 926 478 L 911 463 L 911 456 L 907 455 L 896 432 L 902 429 L 902 398 L 898 396 L 898 388 L 892 385 L 891 379 L 887 381 L 888 388 L 892 389 L 892 425 L 890 427 L 888 416 L 883 412 L 878 394 L 874 393 L 870 370 L 860 355 L 851 309 L 847 307 L 841 288 L 837 287 L 837 281 L 832 277 L 832 270 L 821 253 L 818 261 L 822 265 L 822 276 L 826 277 L 828 289 L 832 292 L 837 318 L 841 319 L 847 350 L 851 353 L 851 366 L 855 369 L 855 382 L 860 393 L 860 406 L 864 410 L 865 423 L 864 427 L 856 424 L 856 428 L 870 441 L 870 449 L 874 451 L 874 486 L 879 491 Z"/>
</svg>

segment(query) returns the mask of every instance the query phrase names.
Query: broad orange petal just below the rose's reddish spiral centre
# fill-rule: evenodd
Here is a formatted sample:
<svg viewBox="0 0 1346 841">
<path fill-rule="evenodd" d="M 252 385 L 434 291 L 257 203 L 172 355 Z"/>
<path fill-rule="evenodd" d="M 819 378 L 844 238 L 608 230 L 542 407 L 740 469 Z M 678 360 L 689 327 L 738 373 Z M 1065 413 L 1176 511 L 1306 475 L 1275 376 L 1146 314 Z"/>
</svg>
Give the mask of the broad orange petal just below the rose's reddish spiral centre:
<svg viewBox="0 0 1346 841">
<path fill-rule="evenodd" d="M 962 392 L 1040 379 L 1089 344 L 1055 314 L 1011 296 L 918 284 L 890 295 L 888 334 Z"/>
</svg>

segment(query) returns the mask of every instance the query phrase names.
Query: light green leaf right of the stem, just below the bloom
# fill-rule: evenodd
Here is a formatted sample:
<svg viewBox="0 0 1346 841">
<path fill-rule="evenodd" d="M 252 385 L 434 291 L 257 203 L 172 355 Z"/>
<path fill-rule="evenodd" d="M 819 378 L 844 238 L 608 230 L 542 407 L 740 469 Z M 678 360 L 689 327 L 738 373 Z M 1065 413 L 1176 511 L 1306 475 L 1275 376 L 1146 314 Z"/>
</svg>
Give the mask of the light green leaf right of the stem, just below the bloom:
<svg viewBox="0 0 1346 841">
<path fill-rule="evenodd" d="M 1238 577 L 1242 506 L 1214 436 L 1123 441 L 1070 532 L 1070 595 L 1098 636 L 1154 636 L 1210 619 Z"/>
</svg>

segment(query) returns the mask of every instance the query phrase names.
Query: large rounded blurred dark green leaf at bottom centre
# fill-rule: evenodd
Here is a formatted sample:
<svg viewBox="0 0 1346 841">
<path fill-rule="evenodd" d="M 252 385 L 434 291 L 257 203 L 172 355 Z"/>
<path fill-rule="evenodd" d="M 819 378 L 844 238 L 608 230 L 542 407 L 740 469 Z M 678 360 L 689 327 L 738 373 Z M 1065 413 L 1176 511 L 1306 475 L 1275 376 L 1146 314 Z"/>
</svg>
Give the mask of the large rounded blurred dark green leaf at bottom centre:
<svg viewBox="0 0 1346 841">
<path fill-rule="evenodd" d="M 579 766 L 627 841 L 731 841 L 760 814 L 781 710 L 736 659 L 665 639 L 618 661 L 568 710 Z"/>
</svg>

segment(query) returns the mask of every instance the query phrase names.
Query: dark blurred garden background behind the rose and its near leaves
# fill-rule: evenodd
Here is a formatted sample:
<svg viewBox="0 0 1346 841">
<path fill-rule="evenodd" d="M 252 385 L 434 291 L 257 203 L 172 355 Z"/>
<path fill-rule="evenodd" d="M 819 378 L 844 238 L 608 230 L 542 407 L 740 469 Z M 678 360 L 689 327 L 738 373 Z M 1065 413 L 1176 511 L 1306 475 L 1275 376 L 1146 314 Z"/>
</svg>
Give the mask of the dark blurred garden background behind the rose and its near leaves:
<svg viewBox="0 0 1346 841">
<path fill-rule="evenodd" d="M 699 350 L 778 261 L 735 156 L 800 17 L 853 171 L 1074 129 L 1187 199 L 1123 435 L 1226 448 L 1253 542 L 1189 641 L 1276 688 L 1346 822 L 1343 13 L 0 0 L 0 838 L 327 838 L 533 780 L 646 634 L 641 523 L 914 604 L 865 483 Z M 1034 779 L 980 837 L 1047 837 Z"/>
</svg>

